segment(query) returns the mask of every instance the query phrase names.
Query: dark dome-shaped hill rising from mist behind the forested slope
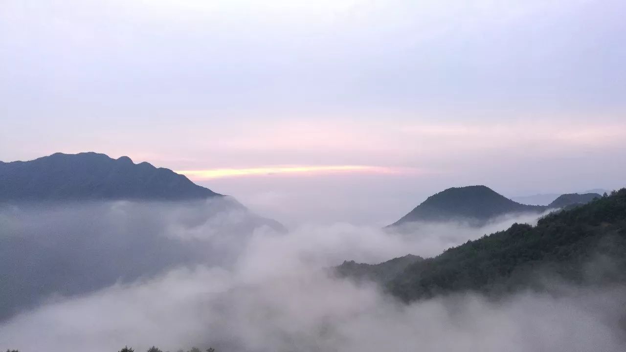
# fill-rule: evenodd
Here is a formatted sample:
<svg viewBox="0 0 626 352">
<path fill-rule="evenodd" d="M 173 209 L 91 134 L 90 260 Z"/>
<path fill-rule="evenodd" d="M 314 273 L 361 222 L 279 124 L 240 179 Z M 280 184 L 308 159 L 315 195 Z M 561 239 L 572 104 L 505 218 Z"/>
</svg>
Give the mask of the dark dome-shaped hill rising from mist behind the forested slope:
<svg viewBox="0 0 626 352">
<path fill-rule="evenodd" d="M 483 185 L 453 187 L 431 195 L 409 214 L 391 224 L 397 226 L 416 221 L 469 220 L 475 224 L 504 214 L 536 212 L 546 207 L 513 202 Z"/>
</svg>

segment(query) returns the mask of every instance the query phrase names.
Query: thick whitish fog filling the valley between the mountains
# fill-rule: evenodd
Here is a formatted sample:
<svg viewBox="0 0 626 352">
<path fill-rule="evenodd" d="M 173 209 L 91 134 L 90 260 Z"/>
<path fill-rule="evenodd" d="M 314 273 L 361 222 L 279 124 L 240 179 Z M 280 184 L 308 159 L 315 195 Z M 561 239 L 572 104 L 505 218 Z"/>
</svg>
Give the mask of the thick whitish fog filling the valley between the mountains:
<svg viewBox="0 0 626 352">
<path fill-rule="evenodd" d="M 159 225 L 170 229 L 168 236 L 183 242 L 212 229 L 178 205 L 126 206 L 106 221 L 120 224 L 133 214 L 153 224 L 151 217 L 158 217 Z M 2 219 L 3 229 L 15 226 L 16 217 L 4 213 Z M 186 227 L 180 219 L 187 219 Z M 300 227 L 288 234 L 255 230 L 230 266 L 173 267 L 19 314 L 0 325 L 0 349 L 105 352 L 128 344 L 142 351 L 155 344 L 170 351 L 193 345 L 259 352 L 623 350 L 624 287 L 563 286 L 558 296 L 520 292 L 499 302 L 466 293 L 404 305 L 374 284 L 324 271 L 345 259 L 433 256 L 512 222 L 535 220 L 508 217 L 480 229 L 423 224 L 411 234 L 349 224 Z"/>
</svg>

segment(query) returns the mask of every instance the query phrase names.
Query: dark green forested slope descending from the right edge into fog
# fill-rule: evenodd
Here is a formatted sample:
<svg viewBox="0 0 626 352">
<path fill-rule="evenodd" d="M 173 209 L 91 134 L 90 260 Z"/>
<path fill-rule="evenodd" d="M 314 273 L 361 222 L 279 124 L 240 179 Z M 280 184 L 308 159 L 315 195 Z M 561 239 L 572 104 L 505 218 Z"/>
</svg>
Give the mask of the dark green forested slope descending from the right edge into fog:
<svg viewBox="0 0 626 352">
<path fill-rule="evenodd" d="M 535 227 L 514 224 L 450 248 L 409 265 L 386 285 L 413 301 L 462 291 L 543 290 L 549 288 L 541 281 L 545 277 L 578 284 L 626 282 L 626 189 L 552 213 Z"/>
</svg>

